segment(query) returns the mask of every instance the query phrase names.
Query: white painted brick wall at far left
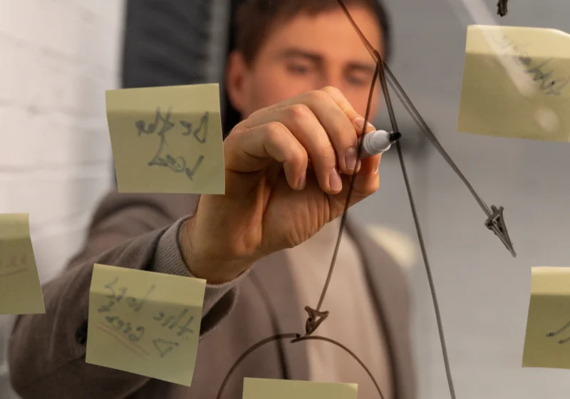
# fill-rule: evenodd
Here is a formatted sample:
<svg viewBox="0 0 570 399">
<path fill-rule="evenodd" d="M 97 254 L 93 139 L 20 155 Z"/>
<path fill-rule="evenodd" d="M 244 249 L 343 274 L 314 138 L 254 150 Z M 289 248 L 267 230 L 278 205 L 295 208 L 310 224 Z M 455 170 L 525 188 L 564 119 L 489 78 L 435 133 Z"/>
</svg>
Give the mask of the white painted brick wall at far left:
<svg viewBox="0 0 570 399">
<path fill-rule="evenodd" d="M 30 214 L 42 281 L 112 183 L 105 90 L 118 86 L 123 14 L 123 0 L 0 0 L 0 212 Z"/>
</svg>

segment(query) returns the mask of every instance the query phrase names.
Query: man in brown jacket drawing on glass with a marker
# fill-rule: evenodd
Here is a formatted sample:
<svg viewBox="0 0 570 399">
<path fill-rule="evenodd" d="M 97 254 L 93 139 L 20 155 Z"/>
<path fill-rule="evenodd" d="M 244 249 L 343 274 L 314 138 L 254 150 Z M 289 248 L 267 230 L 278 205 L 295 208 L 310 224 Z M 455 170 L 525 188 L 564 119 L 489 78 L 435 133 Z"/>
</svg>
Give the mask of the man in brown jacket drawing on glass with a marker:
<svg viewBox="0 0 570 399">
<path fill-rule="evenodd" d="M 380 156 L 356 165 L 375 65 L 336 0 L 263 3 L 247 0 L 239 9 L 237 51 L 227 66 L 229 98 L 244 119 L 224 141 L 226 195 L 199 202 L 108 195 L 86 247 L 43 287 L 46 314 L 16 322 L 9 360 L 22 398 L 215 398 L 247 348 L 303 332 L 303 308 L 318 301 L 349 177 L 356 173 L 352 204 L 378 188 Z M 383 51 L 378 6 L 346 4 Z M 94 263 L 207 280 L 192 387 L 85 363 Z M 356 353 L 383 398 L 414 398 L 405 279 L 352 223 L 322 309 L 331 314 L 315 335 Z M 224 398 L 242 398 L 245 376 L 358 383 L 360 398 L 378 398 L 361 366 L 322 341 L 259 348 L 232 375 Z"/>
</svg>

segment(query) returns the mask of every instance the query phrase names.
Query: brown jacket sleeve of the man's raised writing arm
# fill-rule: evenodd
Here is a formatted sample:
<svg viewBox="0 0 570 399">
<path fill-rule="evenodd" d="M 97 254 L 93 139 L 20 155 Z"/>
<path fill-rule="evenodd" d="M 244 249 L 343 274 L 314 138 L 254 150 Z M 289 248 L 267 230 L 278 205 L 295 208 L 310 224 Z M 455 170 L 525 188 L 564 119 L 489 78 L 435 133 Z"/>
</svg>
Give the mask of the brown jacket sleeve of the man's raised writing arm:
<svg viewBox="0 0 570 399">
<path fill-rule="evenodd" d="M 95 212 L 85 247 L 57 279 L 42 287 L 46 314 L 16 320 L 9 367 L 11 383 L 23 399 L 118 399 L 147 383 L 144 376 L 85 362 L 88 301 L 95 263 L 190 276 L 178 243 L 185 218 L 176 220 L 176 212 L 160 198 L 106 197 Z M 240 279 L 207 285 L 200 338 L 231 311 Z"/>
</svg>

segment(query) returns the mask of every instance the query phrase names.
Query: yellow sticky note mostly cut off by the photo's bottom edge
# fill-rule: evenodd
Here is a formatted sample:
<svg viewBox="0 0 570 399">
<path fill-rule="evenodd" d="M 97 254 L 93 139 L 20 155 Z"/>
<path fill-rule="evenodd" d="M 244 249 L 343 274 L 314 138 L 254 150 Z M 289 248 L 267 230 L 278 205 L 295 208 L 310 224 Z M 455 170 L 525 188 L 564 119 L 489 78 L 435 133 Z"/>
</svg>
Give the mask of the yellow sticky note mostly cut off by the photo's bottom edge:
<svg viewBox="0 0 570 399">
<path fill-rule="evenodd" d="M 358 399 L 358 385 L 244 378 L 243 399 Z"/>
</svg>

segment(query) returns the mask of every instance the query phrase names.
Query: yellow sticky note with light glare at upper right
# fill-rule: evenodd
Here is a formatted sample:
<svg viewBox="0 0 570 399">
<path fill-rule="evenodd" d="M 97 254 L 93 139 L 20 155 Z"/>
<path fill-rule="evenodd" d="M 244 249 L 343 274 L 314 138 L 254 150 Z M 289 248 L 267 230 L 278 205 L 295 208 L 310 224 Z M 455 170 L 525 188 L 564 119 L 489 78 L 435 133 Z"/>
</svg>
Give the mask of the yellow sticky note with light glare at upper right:
<svg viewBox="0 0 570 399">
<path fill-rule="evenodd" d="M 546 28 L 467 28 L 457 130 L 570 141 L 570 35 Z"/>
</svg>

